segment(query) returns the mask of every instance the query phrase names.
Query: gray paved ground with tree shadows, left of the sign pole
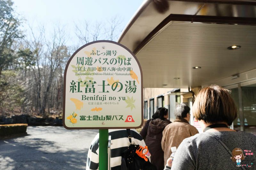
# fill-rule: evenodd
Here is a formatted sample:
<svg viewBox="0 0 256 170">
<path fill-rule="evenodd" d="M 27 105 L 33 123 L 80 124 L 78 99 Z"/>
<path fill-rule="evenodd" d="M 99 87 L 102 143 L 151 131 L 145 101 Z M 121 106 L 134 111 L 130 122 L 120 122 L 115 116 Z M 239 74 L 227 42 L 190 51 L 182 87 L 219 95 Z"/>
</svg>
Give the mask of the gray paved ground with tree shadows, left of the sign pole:
<svg viewBox="0 0 256 170">
<path fill-rule="evenodd" d="M 28 135 L 0 140 L 0 170 L 85 169 L 90 143 L 99 130 L 28 127 Z"/>
</svg>

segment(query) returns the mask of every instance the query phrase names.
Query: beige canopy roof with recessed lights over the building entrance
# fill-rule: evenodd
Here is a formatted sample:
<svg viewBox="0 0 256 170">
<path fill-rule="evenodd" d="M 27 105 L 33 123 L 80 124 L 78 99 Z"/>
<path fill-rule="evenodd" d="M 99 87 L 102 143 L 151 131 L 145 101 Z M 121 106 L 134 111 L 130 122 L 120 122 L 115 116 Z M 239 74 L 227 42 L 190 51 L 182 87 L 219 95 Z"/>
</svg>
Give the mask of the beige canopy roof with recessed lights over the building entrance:
<svg viewBox="0 0 256 170">
<path fill-rule="evenodd" d="M 118 40 L 137 56 L 144 87 L 223 86 L 256 78 L 255 1 L 167 2 L 169 8 L 161 9 L 145 1 Z M 229 50 L 233 45 L 241 48 Z"/>
</svg>

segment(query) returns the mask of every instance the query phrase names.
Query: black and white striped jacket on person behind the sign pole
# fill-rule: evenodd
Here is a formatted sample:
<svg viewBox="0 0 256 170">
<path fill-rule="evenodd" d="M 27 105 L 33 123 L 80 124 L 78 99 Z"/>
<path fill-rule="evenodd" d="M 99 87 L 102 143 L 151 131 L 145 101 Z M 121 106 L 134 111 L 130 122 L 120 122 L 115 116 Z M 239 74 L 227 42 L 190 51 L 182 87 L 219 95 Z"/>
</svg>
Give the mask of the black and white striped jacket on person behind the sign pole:
<svg viewBox="0 0 256 170">
<path fill-rule="evenodd" d="M 111 170 L 121 169 L 121 154 L 130 145 L 128 134 L 126 129 L 108 129 L 108 135 L 111 136 L 111 158 L 110 165 Z M 132 144 L 139 144 L 145 147 L 146 144 L 140 134 L 135 130 L 131 129 Z M 92 140 L 90 149 L 88 151 L 86 170 L 99 169 L 99 133 Z"/>
</svg>

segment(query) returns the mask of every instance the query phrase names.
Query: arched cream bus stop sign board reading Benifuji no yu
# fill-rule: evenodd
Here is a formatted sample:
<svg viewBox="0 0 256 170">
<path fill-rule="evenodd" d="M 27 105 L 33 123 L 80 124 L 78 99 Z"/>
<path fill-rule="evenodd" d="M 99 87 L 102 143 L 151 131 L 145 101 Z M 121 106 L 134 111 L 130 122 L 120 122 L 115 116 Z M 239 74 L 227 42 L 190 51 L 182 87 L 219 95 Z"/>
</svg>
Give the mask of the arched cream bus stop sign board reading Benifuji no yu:
<svg viewBox="0 0 256 170">
<path fill-rule="evenodd" d="M 135 55 L 113 41 L 79 48 L 64 73 L 66 129 L 138 128 L 143 123 L 142 71 Z"/>
</svg>

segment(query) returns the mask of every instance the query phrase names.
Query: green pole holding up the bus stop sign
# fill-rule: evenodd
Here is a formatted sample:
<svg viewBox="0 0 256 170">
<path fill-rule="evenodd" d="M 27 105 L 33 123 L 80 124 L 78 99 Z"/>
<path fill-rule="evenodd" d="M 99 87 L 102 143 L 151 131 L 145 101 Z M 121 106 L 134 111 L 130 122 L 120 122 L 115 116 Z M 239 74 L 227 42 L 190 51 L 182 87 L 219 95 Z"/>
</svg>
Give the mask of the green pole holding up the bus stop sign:
<svg viewBox="0 0 256 170">
<path fill-rule="evenodd" d="M 108 169 L 108 129 L 100 129 L 99 170 Z"/>
</svg>

